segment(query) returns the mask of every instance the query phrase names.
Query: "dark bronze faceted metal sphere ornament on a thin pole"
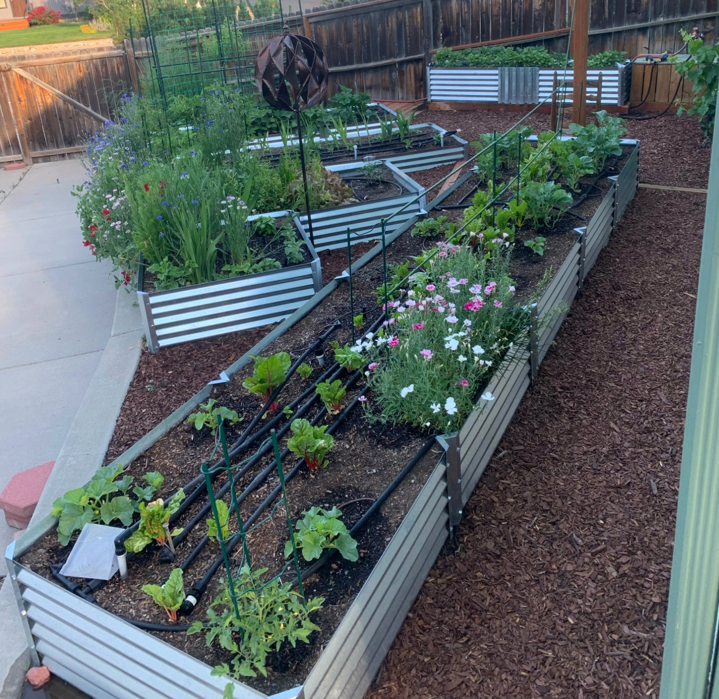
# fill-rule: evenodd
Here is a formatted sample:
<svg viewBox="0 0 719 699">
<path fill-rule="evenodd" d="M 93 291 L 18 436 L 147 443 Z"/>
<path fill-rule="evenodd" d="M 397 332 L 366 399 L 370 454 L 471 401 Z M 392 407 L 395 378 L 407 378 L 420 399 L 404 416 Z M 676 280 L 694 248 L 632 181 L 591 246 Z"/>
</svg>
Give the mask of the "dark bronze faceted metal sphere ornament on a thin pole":
<svg viewBox="0 0 719 699">
<path fill-rule="evenodd" d="M 328 72 L 324 51 L 307 37 L 290 34 L 287 22 L 283 35 L 268 41 L 260 50 L 255 63 L 255 82 L 267 104 L 283 111 L 293 111 L 297 119 L 307 227 L 313 245 L 314 235 L 300 112 L 324 99 L 327 92 Z"/>
</svg>

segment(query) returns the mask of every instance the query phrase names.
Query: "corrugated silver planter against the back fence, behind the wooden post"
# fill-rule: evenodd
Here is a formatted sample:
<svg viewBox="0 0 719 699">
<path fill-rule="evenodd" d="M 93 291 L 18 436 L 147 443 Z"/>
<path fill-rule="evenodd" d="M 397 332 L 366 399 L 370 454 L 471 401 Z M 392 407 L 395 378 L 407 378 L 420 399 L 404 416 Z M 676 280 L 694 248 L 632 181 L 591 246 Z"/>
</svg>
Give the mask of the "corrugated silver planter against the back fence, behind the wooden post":
<svg viewBox="0 0 719 699">
<path fill-rule="evenodd" d="M 487 102 L 494 104 L 539 104 L 551 99 L 554 73 L 564 79 L 562 68 L 438 68 L 430 65 L 427 75 L 429 101 Z M 590 68 L 587 79 L 602 74 L 602 104 L 623 106 L 629 99 L 631 70 Z M 567 80 L 573 71 L 567 70 Z"/>
</svg>

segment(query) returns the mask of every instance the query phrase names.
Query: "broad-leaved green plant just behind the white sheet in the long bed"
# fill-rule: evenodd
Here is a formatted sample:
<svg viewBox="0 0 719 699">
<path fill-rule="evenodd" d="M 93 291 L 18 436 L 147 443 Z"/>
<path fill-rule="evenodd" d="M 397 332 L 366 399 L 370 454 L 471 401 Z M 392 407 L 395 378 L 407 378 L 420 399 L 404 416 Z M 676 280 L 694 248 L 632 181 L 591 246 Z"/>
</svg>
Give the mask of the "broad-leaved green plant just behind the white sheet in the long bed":
<svg viewBox="0 0 719 699">
<path fill-rule="evenodd" d="M 67 546 L 75 531 L 80 531 L 86 524 L 111 524 L 116 519 L 124 526 L 132 524 L 137 501 L 132 501 L 127 491 L 133 479 L 129 475 L 119 478 L 122 472 L 121 464 L 103 466 L 83 488 L 68 490 L 52 503 L 50 513 L 59 519 L 60 544 Z"/>
</svg>

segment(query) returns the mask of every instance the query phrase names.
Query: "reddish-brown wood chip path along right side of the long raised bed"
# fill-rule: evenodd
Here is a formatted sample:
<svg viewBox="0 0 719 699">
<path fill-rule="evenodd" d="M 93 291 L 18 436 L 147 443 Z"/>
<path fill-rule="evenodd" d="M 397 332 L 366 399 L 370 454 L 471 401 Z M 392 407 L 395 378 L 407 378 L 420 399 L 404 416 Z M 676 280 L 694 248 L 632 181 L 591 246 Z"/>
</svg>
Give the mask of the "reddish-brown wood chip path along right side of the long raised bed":
<svg viewBox="0 0 719 699">
<path fill-rule="evenodd" d="M 367 699 L 658 697 L 703 215 L 638 191 Z"/>
</svg>

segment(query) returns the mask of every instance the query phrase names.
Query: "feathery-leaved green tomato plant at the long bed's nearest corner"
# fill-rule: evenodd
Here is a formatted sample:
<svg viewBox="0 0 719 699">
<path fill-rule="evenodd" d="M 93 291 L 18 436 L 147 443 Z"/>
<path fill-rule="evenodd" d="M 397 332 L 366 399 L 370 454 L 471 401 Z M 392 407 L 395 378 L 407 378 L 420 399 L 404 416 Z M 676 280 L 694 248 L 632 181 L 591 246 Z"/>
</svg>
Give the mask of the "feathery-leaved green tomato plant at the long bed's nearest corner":
<svg viewBox="0 0 719 699">
<path fill-rule="evenodd" d="M 240 677 L 267 677 L 267 655 L 278 651 L 283 644 L 293 647 L 297 641 L 309 643 L 310 634 L 319 626 L 310 619 L 311 613 L 321 609 L 324 598 L 314 597 L 303 603 L 300 593 L 291 582 L 278 578 L 265 583 L 262 577 L 267 568 L 240 570 L 234 588 L 237 593 L 239 616 L 234 611 L 229 585 L 209 606 L 206 621 L 196 621 L 188 634 L 205 634 L 207 645 L 214 643 L 229 651 L 230 660 L 215 667 L 212 674 Z"/>
</svg>

